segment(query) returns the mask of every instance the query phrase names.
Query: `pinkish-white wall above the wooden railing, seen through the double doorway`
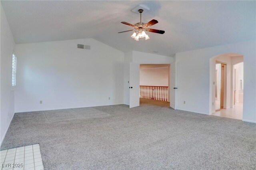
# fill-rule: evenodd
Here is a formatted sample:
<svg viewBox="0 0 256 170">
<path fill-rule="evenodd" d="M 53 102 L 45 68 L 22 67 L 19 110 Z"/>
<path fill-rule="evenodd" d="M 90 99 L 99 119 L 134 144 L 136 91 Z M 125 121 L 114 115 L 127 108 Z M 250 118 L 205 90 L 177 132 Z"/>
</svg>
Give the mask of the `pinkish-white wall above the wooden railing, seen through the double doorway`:
<svg viewBox="0 0 256 170">
<path fill-rule="evenodd" d="M 169 68 L 140 68 L 140 85 L 168 86 Z"/>
</svg>

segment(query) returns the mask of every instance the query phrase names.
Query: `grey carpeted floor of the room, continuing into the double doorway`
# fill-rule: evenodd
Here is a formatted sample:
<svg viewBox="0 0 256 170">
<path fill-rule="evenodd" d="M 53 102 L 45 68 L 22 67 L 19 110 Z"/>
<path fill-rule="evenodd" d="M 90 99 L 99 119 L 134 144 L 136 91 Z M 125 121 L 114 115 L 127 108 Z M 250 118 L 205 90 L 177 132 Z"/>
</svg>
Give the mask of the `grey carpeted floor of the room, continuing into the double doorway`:
<svg viewBox="0 0 256 170">
<path fill-rule="evenodd" d="M 150 102 L 16 113 L 1 150 L 39 143 L 45 169 L 256 169 L 256 124 Z"/>
</svg>

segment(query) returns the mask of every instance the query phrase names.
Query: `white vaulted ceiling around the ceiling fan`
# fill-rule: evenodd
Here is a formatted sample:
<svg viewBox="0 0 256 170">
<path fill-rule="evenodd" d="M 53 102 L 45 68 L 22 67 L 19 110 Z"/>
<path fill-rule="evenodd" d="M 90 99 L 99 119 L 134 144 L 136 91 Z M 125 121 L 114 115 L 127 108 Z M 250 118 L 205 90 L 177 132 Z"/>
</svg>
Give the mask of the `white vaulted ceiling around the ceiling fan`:
<svg viewBox="0 0 256 170">
<path fill-rule="evenodd" d="M 94 38 L 121 51 L 170 56 L 177 52 L 256 39 L 256 1 L 1 1 L 16 43 Z M 146 4 L 150 40 L 136 42 L 131 10 Z"/>
</svg>

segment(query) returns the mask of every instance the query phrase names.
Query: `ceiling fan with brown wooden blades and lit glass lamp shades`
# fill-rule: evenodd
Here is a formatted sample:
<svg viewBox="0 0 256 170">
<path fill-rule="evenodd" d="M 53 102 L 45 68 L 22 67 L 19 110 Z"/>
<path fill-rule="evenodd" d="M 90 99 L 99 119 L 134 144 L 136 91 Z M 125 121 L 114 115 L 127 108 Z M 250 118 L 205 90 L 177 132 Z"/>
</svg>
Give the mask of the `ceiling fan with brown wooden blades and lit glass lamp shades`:
<svg viewBox="0 0 256 170">
<path fill-rule="evenodd" d="M 146 40 L 150 39 L 148 37 L 148 34 L 146 34 L 145 31 L 154 32 L 154 33 L 158 33 L 158 34 L 164 34 L 164 31 L 162 31 L 162 30 L 155 30 L 152 28 L 148 28 L 150 26 L 153 26 L 154 24 L 157 24 L 158 23 L 157 20 L 151 20 L 150 22 L 145 24 L 145 23 L 141 22 L 141 14 L 142 14 L 143 10 L 140 9 L 140 10 L 138 10 L 138 12 L 140 13 L 140 22 L 138 22 L 134 25 L 129 24 L 127 22 L 121 22 L 122 24 L 126 24 L 128 26 L 134 27 L 134 29 L 128 30 L 128 31 L 122 31 L 122 32 L 118 32 L 118 33 L 134 31 L 134 33 L 132 34 L 131 37 L 134 38 L 134 40 L 136 40 L 136 41 L 139 41 L 139 39 L 142 39 L 142 38 L 145 38 Z"/>
</svg>

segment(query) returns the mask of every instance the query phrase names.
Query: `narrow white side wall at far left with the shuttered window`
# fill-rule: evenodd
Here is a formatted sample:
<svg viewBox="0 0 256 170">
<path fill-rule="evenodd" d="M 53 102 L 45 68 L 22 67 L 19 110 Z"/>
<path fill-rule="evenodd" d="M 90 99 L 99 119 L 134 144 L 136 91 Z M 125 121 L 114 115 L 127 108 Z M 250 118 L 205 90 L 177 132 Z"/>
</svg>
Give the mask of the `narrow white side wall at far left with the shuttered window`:
<svg viewBox="0 0 256 170">
<path fill-rule="evenodd" d="M 12 51 L 15 42 L 0 3 L 0 141 L 8 130 L 14 115 L 14 90 L 12 91 Z"/>
</svg>

